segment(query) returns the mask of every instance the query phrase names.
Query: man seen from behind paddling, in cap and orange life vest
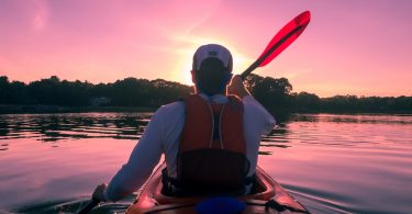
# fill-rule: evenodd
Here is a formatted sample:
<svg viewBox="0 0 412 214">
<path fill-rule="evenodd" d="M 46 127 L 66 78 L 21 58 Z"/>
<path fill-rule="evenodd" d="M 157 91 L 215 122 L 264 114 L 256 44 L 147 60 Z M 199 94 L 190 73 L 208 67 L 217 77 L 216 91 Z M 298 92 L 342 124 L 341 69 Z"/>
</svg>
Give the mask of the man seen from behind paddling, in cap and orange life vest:
<svg viewBox="0 0 412 214">
<path fill-rule="evenodd" d="M 167 194 L 247 194 L 261 135 L 272 129 L 275 119 L 240 76 L 232 78 L 232 68 L 225 47 L 200 46 L 191 70 L 196 93 L 155 112 L 129 161 L 109 185 L 96 188 L 93 198 L 114 202 L 138 190 L 162 155 Z"/>
</svg>

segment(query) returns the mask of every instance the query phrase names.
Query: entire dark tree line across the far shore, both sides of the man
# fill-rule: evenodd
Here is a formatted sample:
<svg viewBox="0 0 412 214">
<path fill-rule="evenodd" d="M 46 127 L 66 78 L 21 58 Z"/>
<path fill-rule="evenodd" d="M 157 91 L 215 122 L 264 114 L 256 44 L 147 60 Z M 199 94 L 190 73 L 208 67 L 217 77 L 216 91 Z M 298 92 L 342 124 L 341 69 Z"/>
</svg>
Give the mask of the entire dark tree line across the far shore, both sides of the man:
<svg viewBox="0 0 412 214">
<path fill-rule="evenodd" d="M 319 98 L 292 92 L 286 78 L 249 75 L 245 83 L 250 93 L 271 111 L 288 112 L 412 112 L 412 97 L 335 95 Z M 192 87 L 164 79 L 125 78 L 113 83 L 60 80 L 56 76 L 29 85 L 0 77 L 0 104 L 42 104 L 62 106 L 149 106 L 157 108 L 192 92 Z M 94 102 L 100 99 L 100 102 Z"/>
</svg>

